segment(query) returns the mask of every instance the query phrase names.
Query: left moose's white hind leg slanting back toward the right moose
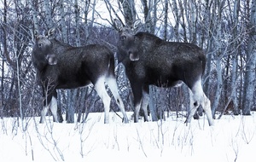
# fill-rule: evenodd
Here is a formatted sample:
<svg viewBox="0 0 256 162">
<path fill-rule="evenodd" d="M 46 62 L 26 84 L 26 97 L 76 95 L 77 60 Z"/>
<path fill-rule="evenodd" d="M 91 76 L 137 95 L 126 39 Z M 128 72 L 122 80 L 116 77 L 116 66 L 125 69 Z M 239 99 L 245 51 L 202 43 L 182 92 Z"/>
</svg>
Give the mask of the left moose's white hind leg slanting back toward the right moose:
<svg viewBox="0 0 256 162">
<path fill-rule="evenodd" d="M 125 105 L 124 102 L 122 101 L 120 95 L 119 95 L 119 90 L 118 90 L 118 85 L 116 83 L 116 79 L 114 77 L 109 77 L 107 79 L 107 84 L 108 87 L 110 88 L 112 94 L 113 94 L 113 98 L 115 100 L 115 102 L 117 103 L 117 105 L 119 106 L 119 109 L 121 110 L 121 112 L 123 113 L 124 116 L 124 122 L 125 123 L 129 123 L 129 119 L 125 113 Z"/>
</svg>

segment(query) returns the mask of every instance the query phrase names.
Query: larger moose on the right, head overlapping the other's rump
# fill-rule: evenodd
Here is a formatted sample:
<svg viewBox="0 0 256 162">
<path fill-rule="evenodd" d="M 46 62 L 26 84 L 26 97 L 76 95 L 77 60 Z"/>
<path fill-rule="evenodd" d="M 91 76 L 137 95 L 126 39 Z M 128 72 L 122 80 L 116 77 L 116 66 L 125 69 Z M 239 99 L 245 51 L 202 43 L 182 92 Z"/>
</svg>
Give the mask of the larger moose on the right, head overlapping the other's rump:
<svg viewBox="0 0 256 162">
<path fill-rule="evenodd" d="M 134 24 L 135 29 L 138 21 Z M 119 32 L 118 61 L 125 67 L 134 96 L 134 122 L 138 122 L 141 107 L 144 120 L 148 121 L 149 85 L 173 87 L 183 82 L 189 87 L 190 99 L 190 113 L 185 123 L 190 123 L 201 104 L 208 124 L 213 124 L 211 102 L 201 85 L 207 60 L 201 48 L 192 43 L 166 42 L 148 32 L 134 34 L 130 27 L 116 19 L 113 26 Z"/>
</svg>

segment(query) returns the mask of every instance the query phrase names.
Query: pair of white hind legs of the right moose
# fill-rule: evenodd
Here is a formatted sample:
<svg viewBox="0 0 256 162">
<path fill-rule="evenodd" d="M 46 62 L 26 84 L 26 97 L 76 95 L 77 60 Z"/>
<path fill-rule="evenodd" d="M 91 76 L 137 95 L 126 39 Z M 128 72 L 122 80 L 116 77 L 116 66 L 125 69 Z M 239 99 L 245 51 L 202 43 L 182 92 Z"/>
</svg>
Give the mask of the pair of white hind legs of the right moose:
<svg viewBox="0 0 256 162">
<path fill-rule="evenodd" d="M 191 97 L 190 103 L 191 111 L 189 113 L 189 117 L 187 119 L 188 123 L 191 121 L 192 116 L 195 114 L 196 108 L 201 104 L 205 113 L 207 114 L 208 124 L 213 125 L 212 119 L 212 110 L 211 110 L 211 101 L 207 98 L 207 95 L 202 90 L 201 79 L 195 82 L 192 92 L 190 92 Z"/>
</svg>

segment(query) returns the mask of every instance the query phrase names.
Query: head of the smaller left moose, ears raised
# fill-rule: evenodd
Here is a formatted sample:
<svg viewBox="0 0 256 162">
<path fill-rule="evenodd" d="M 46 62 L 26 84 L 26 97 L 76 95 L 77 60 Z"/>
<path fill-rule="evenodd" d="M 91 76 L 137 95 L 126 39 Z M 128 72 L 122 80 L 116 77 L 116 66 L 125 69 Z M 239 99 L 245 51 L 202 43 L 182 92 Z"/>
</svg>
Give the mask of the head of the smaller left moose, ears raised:
<svg viewBox="0 0 256 162">
<path fill-rule="evenodd" d="M 47 61 L 49 65 L 57 64 L 56 56 L 51 52 L 52 43 L 50 42 L 50 39 L 53 38 L 54 33 L 55 28 L 49 29 L 49 31 L 46 32 L 45 35 L 39 35 L 38 31 L 34 32 L 34 50 L 37 51 L 37 56 L 41 57 L 40 61 Z"/>
</svg>

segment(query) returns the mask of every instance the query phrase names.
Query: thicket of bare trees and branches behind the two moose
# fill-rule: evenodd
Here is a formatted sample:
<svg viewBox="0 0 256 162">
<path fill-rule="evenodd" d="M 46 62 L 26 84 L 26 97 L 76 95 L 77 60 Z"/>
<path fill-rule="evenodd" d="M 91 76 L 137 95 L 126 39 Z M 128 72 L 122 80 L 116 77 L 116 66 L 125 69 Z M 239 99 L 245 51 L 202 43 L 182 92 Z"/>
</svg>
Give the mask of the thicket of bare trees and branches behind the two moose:
<svg viewBox="0 0 256 162">
<path fill-rule="evenodd" d="M 0 6 L 0 116 L 37 116 L 41 90 L 32 67 L 32 33 L 57 29 L 56 38 L 81 46 L 107 45 L 116 51 L 112 20 L 133 26 L 167 41 L 195 43 L 205 50 L 204 89 L 216 112 L 248 115 L 255 110 L 256 2 L 253 0 L 2 0 Z M 103 14 L 102 14 L 103 13 Z M 107 19 L 109 15 L 109 18 Z M 131 90 L 124 69 L 116 68 L 119 90 L 131 111 Z M 164 85 L 162 86 L 164 88 Z M 150 88 L 149 107 L 184 111 L 189 106 L 185 86 Z M 73 113 L 102 111 L 92 87 L 59 90 L 59 106 L 73 122 Z M 118 110 L 114 103 L 112 107 Z"/>
</svg>

